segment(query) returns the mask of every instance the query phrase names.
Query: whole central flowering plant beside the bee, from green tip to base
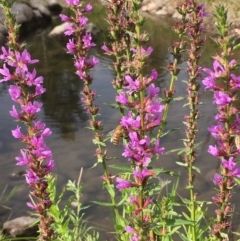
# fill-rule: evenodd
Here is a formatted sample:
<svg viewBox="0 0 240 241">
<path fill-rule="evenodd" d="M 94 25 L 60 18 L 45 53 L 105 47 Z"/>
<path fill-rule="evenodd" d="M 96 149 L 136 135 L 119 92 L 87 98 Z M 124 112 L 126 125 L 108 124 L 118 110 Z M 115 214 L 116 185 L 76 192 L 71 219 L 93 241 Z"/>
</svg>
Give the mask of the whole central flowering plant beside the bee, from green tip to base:
<svg viewBox="0 0 240 241">
<path fill-rule="evenodd" d="M 152 47 L 145 47 L 146 35 L 141 33 L 143 18 L 139 13 L 142 1 L 127 1 L 131 12 L 127 16 L 134 23 L 130 36 L 131 41 L 129 60 L 122 63 L 128 67 L 123 78 L 124 85 L 116 95 L 120 109 L 125 110 L 120 120 L 127 140 L 124 144 L 123 157 L 130 163 L 128 175 L 116 177 L 116 188 L 122 192 L 123 200 L 127 199 L 124 210 L 130 223 L 122 226 L 129 234 L 130 240 L 154 240 L 155 234 L 150 228 L 152 217 L 149 210 L 152 207 L 153 196 L 149 193 L 148 180 L 157 173 L 152 170 L 150 163 L 158 155 L 163 154 L 159 139 L 151 137 L 155 127 L 161 124 L 164 105 L 160 103 L 159 87 L 155 86 L 158 77 L 156 70 L 150 76 L 143 74 Z M 104 46 L 107 53 L 109 50 Z M 129 176 L 130 175 L 130 176 Z M 129 198 L 130 197 L 130 198 Z"/>
</svg>

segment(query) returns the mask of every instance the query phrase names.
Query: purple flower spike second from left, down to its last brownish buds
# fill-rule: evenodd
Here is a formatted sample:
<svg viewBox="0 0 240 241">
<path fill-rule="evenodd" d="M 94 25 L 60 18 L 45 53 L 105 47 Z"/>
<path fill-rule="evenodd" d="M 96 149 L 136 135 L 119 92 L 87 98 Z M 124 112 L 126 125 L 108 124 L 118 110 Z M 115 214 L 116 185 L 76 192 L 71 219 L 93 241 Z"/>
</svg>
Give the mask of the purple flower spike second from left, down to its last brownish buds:
<svg viewBox="0 0 240 241">
<path fill-rule="evenodd" d="M 98 107 L 93 104 L 95 99 L 95 92 L 90 90 L 89 85 L 92 83 L 92 77 L 89 71 L 98 64 L 98 60 L 88 56 L 89 50 L 95 46 L 92 41 L 91 33 L 86 31 L 86 24 L 88 18 L 84 15 L 92 10 L 92 5 L 87 4 L 83 7 L 79 0 L 68 0 L 69 7 L 74 12 L 74 16 L 68 17 L 65 14 L 60 14 L 62 21 L 68 23 L 65 35 L 69 37 L 66 45 L 68 53 L 74 56 L 74 66 L 76 67 L 76 74 L 84 82 L 84 89 L 82 91 L 82 102 L 85 104 L 85 109 L 91 116 L 96 116 Z M 95 121 L 90 122 L 93 130 L 101 129 Z"/>
</svg>

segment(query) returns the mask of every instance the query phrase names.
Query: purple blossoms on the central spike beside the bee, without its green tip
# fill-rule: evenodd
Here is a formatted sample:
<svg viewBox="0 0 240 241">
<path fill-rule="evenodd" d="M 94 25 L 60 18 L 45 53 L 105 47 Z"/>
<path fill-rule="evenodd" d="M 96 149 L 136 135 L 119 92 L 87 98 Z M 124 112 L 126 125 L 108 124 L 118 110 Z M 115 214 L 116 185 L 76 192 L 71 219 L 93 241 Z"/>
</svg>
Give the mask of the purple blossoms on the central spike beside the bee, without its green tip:
<svg viewBox="0 0 240 241">
<path fill-rule="evenodd" d="M 142 47 L 139 52 L 132 48 L 132 51 L 135 51 L 136 59 L 142 60 L 151 53 L 151 51 L 148 51 L 149 49 L 152 48 L 145 50 Z M 119 190 L 136 189 L 136 192 L 133 192 L 135 195 L 131 196 L 128 205 L 133 206 L 132 215 L 135 220 L 141 223 L 140 226 L 145 226 L 150 221 L 144 210 L 149 208 L 148 206 L 152 203 L 152 198 L 145 193 L 145 188 L 148 179 L 155 176 L 155 172 L 149 169 L 149 164 L 154 156 L 164 152 L 164 148 L 159 144 L 159 139 L 150 137 L 150 132 L 161 124 L 162 111 L 164 109 L 164 105 L 159 100 L 160 88 L 154 84 L 157 77 L 156 70 L 152 70 L 149 77 L 139 76 L 133 78 L 130 75 L 126 75 L 126 84 L 116 96 L 118 105 L 123 109 L 129 110 L 120 120 L 120 124 L 128 133 L 128 140 L 122 155 L 128 158 L 134 167 L 132 172 L 134 180 L 125 180 L 117 177 L 116 187 Z M 143 95 L 140 93 L 143 93 Z M 141 229 L 136 227 L 138 221 L 133 224 L 133 227 L 127 226 L 125 229 L 130 234 L 131 240 L 147 237 L 146 233 L 141 233 L 146 232 L 146 230 L 140 231 Z M 134 229 L 139 231 L 134 231 Z"/>
</svg>

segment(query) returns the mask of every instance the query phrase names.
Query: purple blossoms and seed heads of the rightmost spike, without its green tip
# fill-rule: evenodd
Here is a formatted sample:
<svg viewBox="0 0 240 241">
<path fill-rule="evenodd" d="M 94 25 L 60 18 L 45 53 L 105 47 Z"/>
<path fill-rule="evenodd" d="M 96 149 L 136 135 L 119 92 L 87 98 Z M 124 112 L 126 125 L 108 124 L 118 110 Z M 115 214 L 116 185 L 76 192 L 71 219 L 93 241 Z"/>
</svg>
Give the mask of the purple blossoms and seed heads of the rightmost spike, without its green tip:
<svg viewBox="0 0 240 241">
<path fill-rule="evenodd" d="M 219 206 L 216 210 L 219 222 L 212 230 L 215 236 L 231 226 L 229 219 L 233 209 L 229 200 L 235 186 L 234 178 L 240 178 L 240 168 L 236 166 L 236 157 L 240 154 L 240 118 L 239 110 L 234 105 L 240 89 L 240 77 L 231 73 L 237 66 L 235 60 L 229 61 L 227 65 L 223 63 L 218 56 L 213 62 L 213 70 L 203 69 L 208 74 L 203 79 L 203 84 L 205 89 L 214 92 L 213 103 L 218 109 L 215 116 L 217 123 L 208 128 L 216 140 L 215 145 L 209 146 L 208 152 L 221 160 L 220 173 L 215 173 L 213 178 L 218 193 L 212 199 Z"/>
</svg>

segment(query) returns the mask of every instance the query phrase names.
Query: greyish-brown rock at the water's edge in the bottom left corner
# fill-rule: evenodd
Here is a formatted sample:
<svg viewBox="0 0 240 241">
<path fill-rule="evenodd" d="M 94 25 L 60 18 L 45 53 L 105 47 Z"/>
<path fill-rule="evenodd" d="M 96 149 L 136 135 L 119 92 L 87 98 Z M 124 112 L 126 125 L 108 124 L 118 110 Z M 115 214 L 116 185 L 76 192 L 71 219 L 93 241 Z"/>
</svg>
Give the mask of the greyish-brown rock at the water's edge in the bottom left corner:
<svg viewBox="0 0 240 241">
<path fill-rule="evenodd" d="M 37 236 L 38 226 L 36 219 L 30 216 L 22 216 L 3 224 L 3 234 L 11 237 Z"/>
</svg>

